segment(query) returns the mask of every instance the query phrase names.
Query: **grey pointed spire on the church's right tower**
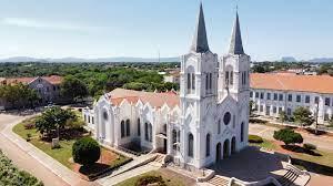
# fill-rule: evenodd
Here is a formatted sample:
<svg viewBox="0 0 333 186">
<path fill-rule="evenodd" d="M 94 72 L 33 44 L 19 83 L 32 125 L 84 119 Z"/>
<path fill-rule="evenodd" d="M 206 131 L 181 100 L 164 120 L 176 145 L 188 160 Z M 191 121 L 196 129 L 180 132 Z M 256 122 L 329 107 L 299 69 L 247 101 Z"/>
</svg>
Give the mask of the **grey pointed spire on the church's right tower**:
<svg viewBox="0 0 333 186">
<path fill-rule="evenodd" d="M 229 53 L 230 54 L 244 54 L 238 11 L 236 11 L 236 19 L 234 21 L 234 25 L 233 25 L 233 30 L 232 30 Z"/>
</svg>

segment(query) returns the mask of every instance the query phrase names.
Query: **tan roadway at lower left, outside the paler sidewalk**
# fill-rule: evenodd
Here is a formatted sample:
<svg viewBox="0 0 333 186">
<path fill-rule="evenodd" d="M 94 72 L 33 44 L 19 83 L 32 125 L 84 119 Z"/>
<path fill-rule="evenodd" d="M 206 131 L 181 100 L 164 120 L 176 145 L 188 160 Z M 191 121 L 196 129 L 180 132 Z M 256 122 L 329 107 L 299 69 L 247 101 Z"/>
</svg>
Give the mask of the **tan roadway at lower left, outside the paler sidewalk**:
<svg viewBox="0 0 333 186">
<path fill-rule="evenodd" d="M 2 131 L 7 125 L 18 123 L 22 120 L 24 120 L 23 116 L 0 114 L 0 131 Z M 38 177 L 46 186 L 68 186 L 65 182 L 23 152 L 11 141 L 7 140 L 1 133 L 0 148 L 10 159 L 12 159 L 14 165 Z"/>
</svg>

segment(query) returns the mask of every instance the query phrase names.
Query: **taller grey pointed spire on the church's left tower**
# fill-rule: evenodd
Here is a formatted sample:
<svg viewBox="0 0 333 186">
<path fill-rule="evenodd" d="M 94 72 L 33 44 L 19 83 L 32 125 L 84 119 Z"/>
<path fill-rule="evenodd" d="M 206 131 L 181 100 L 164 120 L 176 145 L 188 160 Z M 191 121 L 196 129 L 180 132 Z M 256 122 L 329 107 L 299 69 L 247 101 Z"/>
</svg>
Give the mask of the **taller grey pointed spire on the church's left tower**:
<svg viewBox="0 0 333 186">
<path fill-rule="evenodd" d="M 198 16 L 198 23 L 193 37 L 193 42 L 191 45 L 191 51 L 196 53 L 205 53 L 209 50 L 210 48 L 206 40 L 203 9 L 202 9 L 202 3 L 200 3 L 200 12 Z"/>
</svg>

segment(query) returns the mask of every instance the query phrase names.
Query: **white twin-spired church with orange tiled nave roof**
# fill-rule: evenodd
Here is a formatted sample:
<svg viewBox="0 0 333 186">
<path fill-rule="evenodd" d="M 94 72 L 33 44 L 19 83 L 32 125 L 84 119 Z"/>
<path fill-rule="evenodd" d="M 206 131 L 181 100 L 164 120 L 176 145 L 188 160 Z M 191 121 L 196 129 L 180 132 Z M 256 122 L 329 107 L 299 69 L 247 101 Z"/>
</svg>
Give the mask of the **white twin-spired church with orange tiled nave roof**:
<svg viewBox="0 0 333 186">
<path fill-rule="evenodd" d="M 230 49 L 219 58 L 210 50 L 201 4 L 190 51 L 181 56 L 180 92 L 104 94 L 88 114 L 95 138 L 164 153 L 182 167 L 199 169 L 228 158 L 248 145 L 249 71 L 238 12 Z"/>
</svg>

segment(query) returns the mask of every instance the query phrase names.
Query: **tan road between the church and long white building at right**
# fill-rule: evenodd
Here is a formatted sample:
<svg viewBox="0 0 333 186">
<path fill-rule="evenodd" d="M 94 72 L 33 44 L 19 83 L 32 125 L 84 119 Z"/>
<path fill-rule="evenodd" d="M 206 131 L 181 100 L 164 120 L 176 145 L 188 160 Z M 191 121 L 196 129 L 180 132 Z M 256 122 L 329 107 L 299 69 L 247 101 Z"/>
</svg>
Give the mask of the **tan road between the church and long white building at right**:
<svg viewBox="0 0 333 186">
<path fill-rule="evenodd" d="M 274 131 L 279 128 L 274 126 L 250 124 L 249 133 L 262 136 L 263 138 L 273 140 Z M 319 148 L 333 151 L 333 137 L 332 136 L 316 136 L 313 134 L 302 132 L 304 143 L 311 143 L 316 145 Z"/>
</svg>

